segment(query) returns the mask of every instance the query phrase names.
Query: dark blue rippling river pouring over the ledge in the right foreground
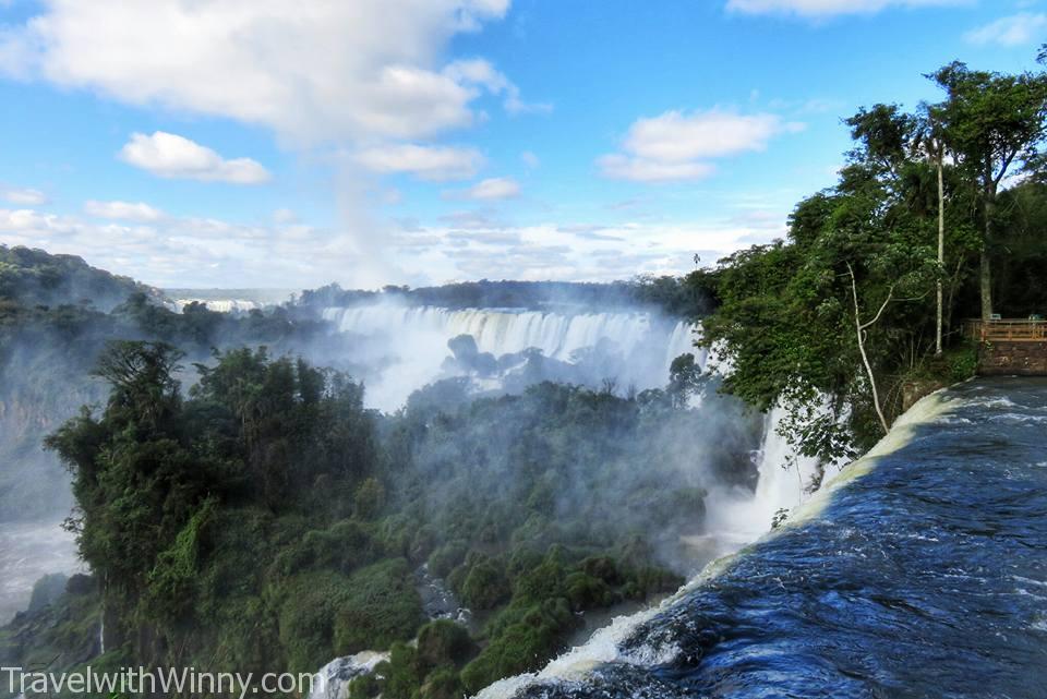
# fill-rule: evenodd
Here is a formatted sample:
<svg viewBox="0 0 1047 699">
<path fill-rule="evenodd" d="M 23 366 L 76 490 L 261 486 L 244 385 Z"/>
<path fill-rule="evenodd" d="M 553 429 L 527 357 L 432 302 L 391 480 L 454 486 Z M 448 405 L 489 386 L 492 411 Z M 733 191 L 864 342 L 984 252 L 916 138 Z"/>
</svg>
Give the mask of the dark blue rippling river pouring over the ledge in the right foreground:
<svg viewBox="0 0 1047 699">
<path fill-rule="evenodd" d="M 1047 381 L 904 423 L 660 610 L 482 696 L 1047 697 Z"/>
</svg>

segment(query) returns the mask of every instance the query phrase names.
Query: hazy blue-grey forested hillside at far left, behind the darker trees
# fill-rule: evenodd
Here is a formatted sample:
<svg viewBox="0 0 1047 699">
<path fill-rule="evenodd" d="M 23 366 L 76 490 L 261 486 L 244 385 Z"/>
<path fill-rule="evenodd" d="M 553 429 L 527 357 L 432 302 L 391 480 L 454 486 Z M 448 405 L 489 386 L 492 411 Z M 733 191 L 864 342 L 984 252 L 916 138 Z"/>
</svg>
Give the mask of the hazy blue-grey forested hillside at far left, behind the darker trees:
<svg viewBox="0 0 1047 699">
<path fill-rule="evenodd" d="M 266 345 L 354 369 L 342 338 L 293 309 L 231 316 L 198 303 L 176 313 L 163 301 L 156 289 L 79 257 L 0 245 L 0 521 L 72 505 L 56 502 L 68 492 L 56 483 L 68 479 L 40 444 L 80 406 L 105 400 L 91 372 L 110 339 L 163 340 L 201 361 L 215 347 Z"/>
</svg>

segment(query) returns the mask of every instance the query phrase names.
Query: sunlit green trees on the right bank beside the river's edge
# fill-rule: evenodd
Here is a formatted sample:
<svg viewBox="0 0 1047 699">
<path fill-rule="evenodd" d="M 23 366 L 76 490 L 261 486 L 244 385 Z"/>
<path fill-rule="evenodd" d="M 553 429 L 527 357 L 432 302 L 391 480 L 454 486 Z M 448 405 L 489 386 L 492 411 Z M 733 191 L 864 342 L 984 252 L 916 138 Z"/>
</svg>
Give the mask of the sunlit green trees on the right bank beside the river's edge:
<svg viewBox="0 0 1047 699">
<path fill-rule="evenodd" d="M 1037 162 L 1047 76 L 953 63 L 931 77 L 943 103 L 916 113 L 876 105 L 846 121 L 855 147 L 839 183 L 796 206 L 786 240 L 688 278 L 719 302 L 703 341 L 733 365 L 723 389 L 761 410 L 789 408 L 782 430 L 804 454 L 844 458 L 869 446 L 882 435 L 879 410 L 888 423 L 901 411 L 903 383 L 944 366 L 934 359 L 937 284 L 947 344 L 956 342 L 963 317 L 982 315 L 978 297 L 989 291 L 1004 313 L 1047 306 L 1042 275 L 1032 272 L 1047 250 L 1042 185 L 1034 176 L 996 191 L 1012 162 Z M 979 289 L 983 249 L 980 269 L 997 274 Z M 941 378 L 970 376 L 973 361 L 956 354 Z"/>
</svg>

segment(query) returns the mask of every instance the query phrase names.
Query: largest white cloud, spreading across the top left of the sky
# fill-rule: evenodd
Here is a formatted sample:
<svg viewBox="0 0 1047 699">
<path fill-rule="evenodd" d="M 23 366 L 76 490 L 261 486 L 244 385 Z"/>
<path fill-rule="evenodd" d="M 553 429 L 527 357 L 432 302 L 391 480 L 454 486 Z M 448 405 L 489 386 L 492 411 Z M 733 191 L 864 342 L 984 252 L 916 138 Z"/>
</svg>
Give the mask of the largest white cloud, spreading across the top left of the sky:
<svg viewBox="0 0 1047 699">
<path fill-rule="evenodd" d="M 50 0 L 2 29 L 0 72 L 263 124 L 304 143 L 421 138 L 472 123 L 482 89 L 510 110 L 522 105 L 493 69 L 480 81 L 441 65 L 452 37 L 500 20 L 508 4 Z"/>
</svg>

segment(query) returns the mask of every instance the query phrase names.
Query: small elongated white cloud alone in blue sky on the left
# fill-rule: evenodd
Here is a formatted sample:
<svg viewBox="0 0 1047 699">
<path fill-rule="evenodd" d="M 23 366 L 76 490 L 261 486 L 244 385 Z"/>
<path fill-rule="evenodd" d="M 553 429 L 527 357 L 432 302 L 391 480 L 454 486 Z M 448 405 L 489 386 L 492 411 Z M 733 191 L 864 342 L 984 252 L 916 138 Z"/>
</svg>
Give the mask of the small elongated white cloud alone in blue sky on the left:
<svg viewBox="0 0 1047 699">
<path fill-rule="evenodd" d="M 269 179 L 269 172 L 251 158 L 226 159 L 220 155 L 173 133 L 156 131 L 153 135 L 131 135 L 118 157 L 136 168 L 163 178 L 258 184 Z"/>
</svg>

